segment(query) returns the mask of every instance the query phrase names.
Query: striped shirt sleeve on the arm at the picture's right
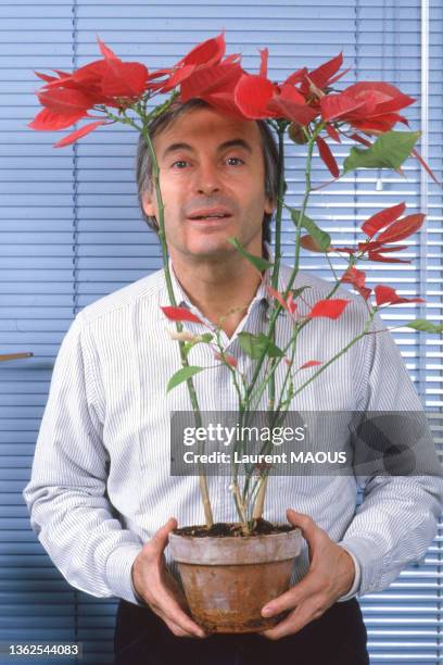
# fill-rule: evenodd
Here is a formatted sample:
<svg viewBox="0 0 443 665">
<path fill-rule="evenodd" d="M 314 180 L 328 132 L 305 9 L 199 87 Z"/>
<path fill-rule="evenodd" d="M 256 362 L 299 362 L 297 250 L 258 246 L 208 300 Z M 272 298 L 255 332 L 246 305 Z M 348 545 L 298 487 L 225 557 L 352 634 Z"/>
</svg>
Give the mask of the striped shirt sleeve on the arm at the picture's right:
<svg viewBox="0 0 443 665">
<path fill-rule="evenodd" d="M 384 328 L 377 315 L 372 330 Z M 360 411 L 422 414 L 421 402 L 391 335 L 374 332 L 365 340 L 368 380 Z M 363 501 L 338 544 L 354 555 L 359 565 L 358 597 L 385 589 L 407 564 L 425 555 L 436 534 L 443 509 L 442 469 L 430 430 L 422 440 L 421 452 L 432 461 L 432 473 L 357 475 Z"/>
</svg>

